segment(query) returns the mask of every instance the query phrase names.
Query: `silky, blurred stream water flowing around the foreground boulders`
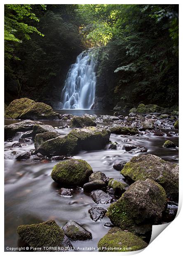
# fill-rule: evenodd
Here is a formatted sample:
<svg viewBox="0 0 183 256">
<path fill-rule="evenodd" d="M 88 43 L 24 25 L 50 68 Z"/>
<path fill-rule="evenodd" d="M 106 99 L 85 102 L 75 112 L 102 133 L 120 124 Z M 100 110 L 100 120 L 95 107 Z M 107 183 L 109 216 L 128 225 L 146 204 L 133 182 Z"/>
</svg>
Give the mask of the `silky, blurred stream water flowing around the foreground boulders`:
<svg viewBox="0 0 183 256">
<path fill-rule="evenodd" d="M 42 122 L 54 127 L 58 126 L 58 121 Z M 67 134 L 70 129 L 58 129 L 58 131 L 61 134 Z M 169 130 L 167 131 L 169 132 Z M 162 148 L 167 139 L 171 139 L 178 146 L 178 136 L 168 136 L 154 136 L 153 133 L 148 132 L 139 136 L 111 134 L 110 140 L 118 143 L 117 150 L 109 150 L 106 146 L 106 149 L 99 151 L 82 151 L 74 158 L 86 160 L 92 166 L 93 171 L 102 171 L 107 177 L 123 178 L 120 172 L 113 168 L 113 164 L 129 161 L 131 157 L 141 154 L 125 152 L 125 145 L 143 145 L 148 149 L 143 154 L 155 154 L 166 161 L 177 163 L 178 147 Z M 34 148 L 33 142 L 28 142 L 21 148 L 12 147 L 19 137 L 19 135 L 16 136 L 13 142 L 5 142 L 5 250 L 6 247 L 21 245 L 16 233 L 18 225 L 40 223 L 49 219 L 54 219 L 60 227 L 65 225 L 68 220 L 80 223 L 92 233 L 93 239 L 72 242 L 73 246 L 97 248 L 99 239 L 109 230 L 104 224 L 110 220 L 105 216 L 101 221 L 94 222 L 88 211 L 97 206 L 107 209 L 109 204 L 95 204 L 89 193 L 82 189 L 74 189 L 72 197 L 60 196 L 58 194 L 60 186 L 50 176 L 52 168 L 57 162 L 31 161 L 31 158 L 25 161 L 16 161 L 14 151 L 28 152 Z M 78 249 L 77 251 L 87 250 Z M 97 251 L 97 249 L 92 249 L 92 251 Z"/>
</svg>

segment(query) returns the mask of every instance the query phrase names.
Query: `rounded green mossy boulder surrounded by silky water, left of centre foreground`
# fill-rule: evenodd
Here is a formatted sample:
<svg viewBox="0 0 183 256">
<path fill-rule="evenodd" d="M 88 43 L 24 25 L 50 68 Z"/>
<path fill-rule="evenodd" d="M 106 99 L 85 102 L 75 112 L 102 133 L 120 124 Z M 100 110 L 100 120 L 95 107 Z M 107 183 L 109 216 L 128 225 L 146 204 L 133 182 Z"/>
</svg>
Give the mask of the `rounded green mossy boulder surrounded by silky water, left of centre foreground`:
<svg viewBox="0 0 183 256">
<path fill-rule="evenodd" d="M 51 176 L 57 183 L 79 186 L 87 183 L 92 173 L 92 167 L 86 161 L 69 159 L 56 164 Z"/>
</svg>

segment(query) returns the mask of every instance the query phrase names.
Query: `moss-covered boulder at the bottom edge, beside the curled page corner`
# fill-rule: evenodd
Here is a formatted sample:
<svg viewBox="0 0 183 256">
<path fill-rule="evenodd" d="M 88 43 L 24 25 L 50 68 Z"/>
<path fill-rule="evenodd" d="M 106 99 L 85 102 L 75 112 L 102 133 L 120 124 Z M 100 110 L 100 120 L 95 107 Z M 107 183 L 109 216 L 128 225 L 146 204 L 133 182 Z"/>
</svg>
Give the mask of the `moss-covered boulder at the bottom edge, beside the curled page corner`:
<svg viewBox="0 0 183 256">
<path fill-rule="evenodd" d="M 120 228 L 111 228 L 108 233 L 99 240 L 99 251 L 138 251 L 148 244 L 131 232 L 125 232 Z M 116 248 L 116 249 L 114 249 Z"/>
</svg>

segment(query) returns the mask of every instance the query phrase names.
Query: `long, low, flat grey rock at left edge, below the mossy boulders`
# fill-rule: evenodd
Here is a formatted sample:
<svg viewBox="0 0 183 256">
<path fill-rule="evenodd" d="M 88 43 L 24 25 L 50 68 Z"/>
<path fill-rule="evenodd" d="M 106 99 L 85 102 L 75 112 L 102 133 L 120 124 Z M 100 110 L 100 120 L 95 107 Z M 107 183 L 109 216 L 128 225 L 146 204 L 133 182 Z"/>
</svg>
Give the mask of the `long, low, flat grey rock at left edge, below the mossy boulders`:
<svg viewBox="0 0 183 256">
<path fill-rule="evenodd" d="M 35 124 L 42 124 L 41 122 L 24 120 L 19 123 L 12 123 L 5 126 L 5 140 L 10 139 L 16 135 L 17 132 L 23 132 L 27 130 L 32 130 Z"/>
</svg>

